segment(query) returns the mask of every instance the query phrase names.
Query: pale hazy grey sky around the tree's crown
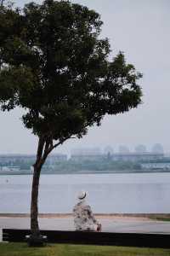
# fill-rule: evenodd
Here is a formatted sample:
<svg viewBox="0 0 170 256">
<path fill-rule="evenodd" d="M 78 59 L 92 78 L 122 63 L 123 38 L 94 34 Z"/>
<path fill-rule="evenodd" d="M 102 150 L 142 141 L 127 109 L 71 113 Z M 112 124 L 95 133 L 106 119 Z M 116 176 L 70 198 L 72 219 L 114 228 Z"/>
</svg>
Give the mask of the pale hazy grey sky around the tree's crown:
<svg viewBox="0 0 170 256">
<path fill-rule="evenodd" d="M 22 6 L 30 1 L 16 0 Z M 35 1 L 41 2 L 41 1 Z M 117 116 L 106 116 L 100 127 L 89 129 L 81 140 L 65 143 L 57 152 L 71 148 L 105 147 L 115 151 L 143 143 L 148 149 L 161 143 L 170 152 L 170 1 L 169 0 L 74 0 L 95 9 L 104 21 L 102 37 L 110 38 L 112 56 L 124 51 L 127 61 L 144 74 L 140 80 L 143 104 Z M 34 154 L 37 138 L 20 121 L 21 110 L 0 113 L 0 154 Z"/>
</svg>

